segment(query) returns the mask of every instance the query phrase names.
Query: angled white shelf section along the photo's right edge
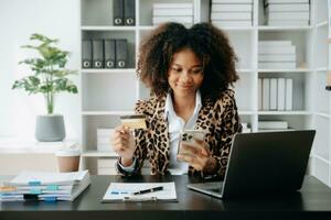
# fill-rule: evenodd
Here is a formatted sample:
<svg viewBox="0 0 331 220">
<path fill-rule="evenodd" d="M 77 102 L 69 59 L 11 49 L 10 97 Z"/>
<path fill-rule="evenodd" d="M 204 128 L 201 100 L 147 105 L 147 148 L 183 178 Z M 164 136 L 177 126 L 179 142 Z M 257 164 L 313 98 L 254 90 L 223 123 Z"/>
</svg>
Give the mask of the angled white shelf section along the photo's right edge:
<svg viewBox="0 0 331 220">
<path fill-rule="evenodd" d="M 313 34 L 313 128 L 317 136 L 312 151 L 312 175 L 331 187 L 331 92 L 325 90 L 327 73 L 330 69 L 328 62 L 330 52 L 328 45 L 328 1 L 314 1 L 313 4 L 314 25 Z"/>
</svg>

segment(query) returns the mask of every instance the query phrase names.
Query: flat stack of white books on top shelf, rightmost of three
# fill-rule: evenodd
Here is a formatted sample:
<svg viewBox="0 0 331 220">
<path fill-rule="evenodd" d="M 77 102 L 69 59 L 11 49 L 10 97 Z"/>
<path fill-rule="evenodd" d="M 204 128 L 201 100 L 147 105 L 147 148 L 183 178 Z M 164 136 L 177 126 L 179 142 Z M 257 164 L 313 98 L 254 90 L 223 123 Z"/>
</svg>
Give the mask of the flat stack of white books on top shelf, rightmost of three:
<svg viewBox="0 0 331 220">
<path fill-rule="evenodd" d="M 265 0 L 268 25 L 309 25 L 309 0 Z"/>
</svg>

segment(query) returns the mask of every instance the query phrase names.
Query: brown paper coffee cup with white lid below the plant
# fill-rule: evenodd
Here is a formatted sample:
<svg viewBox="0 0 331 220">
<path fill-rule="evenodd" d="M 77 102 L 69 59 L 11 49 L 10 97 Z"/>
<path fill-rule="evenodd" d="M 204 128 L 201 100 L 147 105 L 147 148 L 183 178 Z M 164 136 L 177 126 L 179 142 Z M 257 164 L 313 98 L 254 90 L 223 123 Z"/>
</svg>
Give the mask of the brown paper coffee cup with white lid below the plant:
<svg viewBox="0 0 331 220">
<path fill-rule="evenodd" d="M 56 152 L 58 172 L 77 172 L 81 151 L 78 148 L 62 148 Z"/>
</svg>

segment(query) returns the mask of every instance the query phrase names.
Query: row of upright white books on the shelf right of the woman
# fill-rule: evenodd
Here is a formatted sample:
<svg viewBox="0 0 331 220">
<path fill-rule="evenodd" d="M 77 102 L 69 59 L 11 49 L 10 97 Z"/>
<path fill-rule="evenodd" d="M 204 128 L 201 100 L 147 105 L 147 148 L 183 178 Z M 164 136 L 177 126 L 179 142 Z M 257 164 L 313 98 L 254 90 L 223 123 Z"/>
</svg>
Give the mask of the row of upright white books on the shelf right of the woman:
<svg viewBox="0 0 331 220">
<path fill-rule="evenodd" d="M 258 78 L 258 109 L 264 111 L 292 110 L 292 78 Z"/>
</svg>

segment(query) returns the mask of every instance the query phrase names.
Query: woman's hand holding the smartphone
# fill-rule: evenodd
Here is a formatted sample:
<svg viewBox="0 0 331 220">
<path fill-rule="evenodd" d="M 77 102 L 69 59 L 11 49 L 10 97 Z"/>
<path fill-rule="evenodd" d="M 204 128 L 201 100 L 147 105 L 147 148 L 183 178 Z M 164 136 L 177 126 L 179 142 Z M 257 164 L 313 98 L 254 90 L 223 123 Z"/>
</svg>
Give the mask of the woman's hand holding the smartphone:
<svg viewBox="0 0 331 220">
<path fill-rule="evenodd" d="M 195 140 L 196 146 L 191 146 L 181 143 L 181 146 L 185 154 L 179 154 L 178 158 L 188 162 L 190 166 L 196 170 L 202 170 L 206 173 L 214 173 L 216 168 L 216 160 L 212 156 L 211 152 L 207 150 L 204 141 Z"/>
</svg>

